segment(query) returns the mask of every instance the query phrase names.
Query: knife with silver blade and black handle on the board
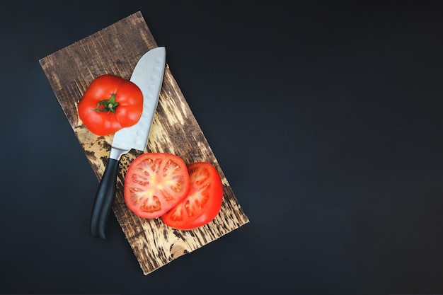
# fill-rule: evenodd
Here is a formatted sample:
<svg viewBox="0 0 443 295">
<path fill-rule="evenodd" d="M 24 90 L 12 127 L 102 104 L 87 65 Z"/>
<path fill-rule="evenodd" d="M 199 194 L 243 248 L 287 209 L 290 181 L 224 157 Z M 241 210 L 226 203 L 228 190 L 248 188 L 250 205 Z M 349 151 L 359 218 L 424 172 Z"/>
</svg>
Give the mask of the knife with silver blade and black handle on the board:
<svg viewBox="0 0 443 295">
<path fill-rule="evenodd" d="M 115 197 L 118 162 L 131 149 L 144 151 L 159 102 L 166 64 L 165 47 L 146 52 L 137 62 L 130 81 L 143 93 L 143 111 L 139 122 L 115 132 L 113 144 L 103 177 L 96 192 L 91 215 L 91 236 L 105 239 L 105 227 Z"/>
</svg>

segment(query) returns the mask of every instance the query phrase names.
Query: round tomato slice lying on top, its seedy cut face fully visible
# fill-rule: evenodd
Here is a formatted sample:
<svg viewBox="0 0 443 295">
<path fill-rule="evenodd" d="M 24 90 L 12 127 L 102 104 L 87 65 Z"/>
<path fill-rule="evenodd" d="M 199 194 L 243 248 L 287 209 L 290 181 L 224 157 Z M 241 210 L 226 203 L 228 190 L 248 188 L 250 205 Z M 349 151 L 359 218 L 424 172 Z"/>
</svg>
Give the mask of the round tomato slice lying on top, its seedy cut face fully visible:
<svg viewBox="0 0 443 295">
<path fill-rule="evenodd" d="M 137 216 L 154 219 L 186 197 L 189 185 L 186 164 L 179 156 L 142 154 L 127 168 L 125 202 Z"/>
</svg>

